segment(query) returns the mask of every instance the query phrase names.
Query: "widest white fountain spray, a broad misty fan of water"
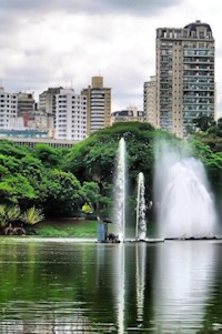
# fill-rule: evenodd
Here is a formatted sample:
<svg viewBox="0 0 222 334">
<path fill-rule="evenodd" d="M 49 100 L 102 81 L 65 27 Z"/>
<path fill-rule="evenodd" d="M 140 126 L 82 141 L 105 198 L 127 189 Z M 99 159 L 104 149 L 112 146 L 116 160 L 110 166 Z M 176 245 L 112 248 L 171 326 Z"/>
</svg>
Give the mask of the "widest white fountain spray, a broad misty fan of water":
<svg viewBox="0 0 222 334">
<path fill-rule="evenodd" d="M 203 239 L 216 233 L 216 214 L 203 164 L 180 148 L 161 144 L 157 154 L 155 203 L 165 239 Z"/>
</svg>

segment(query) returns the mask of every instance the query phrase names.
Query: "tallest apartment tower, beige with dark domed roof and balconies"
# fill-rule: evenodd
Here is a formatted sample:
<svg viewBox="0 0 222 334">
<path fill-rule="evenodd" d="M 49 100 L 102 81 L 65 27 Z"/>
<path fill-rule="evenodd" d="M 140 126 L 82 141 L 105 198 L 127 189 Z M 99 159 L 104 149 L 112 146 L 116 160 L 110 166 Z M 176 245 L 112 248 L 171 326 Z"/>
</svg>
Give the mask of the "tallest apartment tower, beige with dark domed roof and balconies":
<svg viewBox="0 0 222 334">
<path fill-rule="evenodd" d="M 196 115 L 215 115 L 214 38 L 208 23 L 157 29 L 158 126 L 186 135 Z"/>
</svg>

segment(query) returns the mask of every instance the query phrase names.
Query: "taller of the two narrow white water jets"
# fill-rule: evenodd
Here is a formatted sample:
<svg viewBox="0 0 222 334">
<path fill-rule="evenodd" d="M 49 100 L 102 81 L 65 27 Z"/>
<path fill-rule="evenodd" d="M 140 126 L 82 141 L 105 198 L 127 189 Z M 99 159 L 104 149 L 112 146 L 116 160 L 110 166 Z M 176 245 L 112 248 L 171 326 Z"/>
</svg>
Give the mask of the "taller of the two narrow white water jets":
<svg viewBox="0 0 222 334">
<path fill-rule="evenodd" d="M 125 141 L 121 138 L 117 152 L 114 175 L 114 223 L 119 241 L 125 239 Z"/>
</svg>

